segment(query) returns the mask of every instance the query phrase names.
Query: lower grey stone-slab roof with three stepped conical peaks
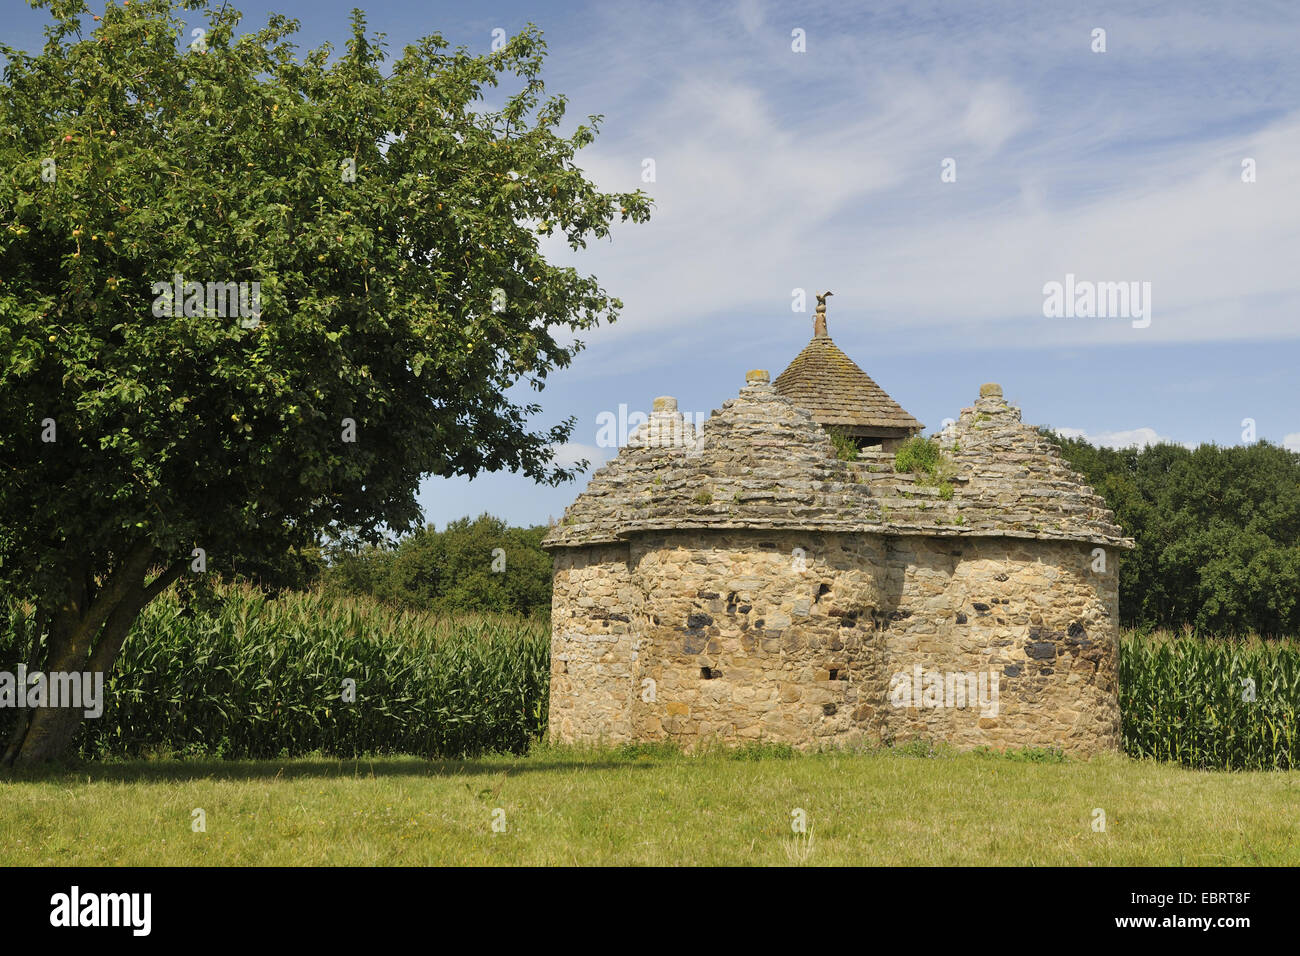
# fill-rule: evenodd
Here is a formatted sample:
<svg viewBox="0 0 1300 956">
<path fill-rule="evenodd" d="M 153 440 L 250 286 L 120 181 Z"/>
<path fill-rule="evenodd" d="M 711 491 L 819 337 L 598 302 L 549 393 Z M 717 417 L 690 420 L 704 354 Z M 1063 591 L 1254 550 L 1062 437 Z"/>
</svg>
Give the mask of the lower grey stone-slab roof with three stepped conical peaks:
<svg viewBox="0 0 1300 956">
<path fill-rule="evenodd" d="M 952 496 L 894 470 L 892 454 L 836 458 L 824 428 L 750 372 L 698 434 L 659 399 L 598 468 L 545 548 L 612 544 L 641 532 L 753 528 L 1087 541 L 1132 548 L 1105 501 L 1020 423 L 996 385 L 939 438 Z M 946 490 L 946 489 L 945 489 Z"/>
</svg>

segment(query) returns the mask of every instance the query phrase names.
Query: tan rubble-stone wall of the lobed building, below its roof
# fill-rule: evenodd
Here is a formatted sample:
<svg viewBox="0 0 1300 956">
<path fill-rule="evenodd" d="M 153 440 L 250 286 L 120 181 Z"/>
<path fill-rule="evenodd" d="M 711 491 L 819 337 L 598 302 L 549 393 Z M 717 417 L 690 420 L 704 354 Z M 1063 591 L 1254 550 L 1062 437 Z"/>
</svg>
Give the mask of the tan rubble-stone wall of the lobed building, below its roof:
<svg viewBox="0 0 1300 956">
<path fill-rule="evenodd" d="M 788 531 L 559 549 L 551 734 L 1114 749 L 1117 555 L 1092 564 L 1072 541 Z"/>
</svg>

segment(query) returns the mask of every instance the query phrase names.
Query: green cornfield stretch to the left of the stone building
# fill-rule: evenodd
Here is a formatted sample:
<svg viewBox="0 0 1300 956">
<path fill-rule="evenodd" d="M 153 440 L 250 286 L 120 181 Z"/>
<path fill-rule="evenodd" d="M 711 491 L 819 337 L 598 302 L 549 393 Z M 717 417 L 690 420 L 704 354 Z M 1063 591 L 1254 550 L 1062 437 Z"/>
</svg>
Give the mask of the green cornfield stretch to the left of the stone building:
<svg viewBox="0 0 1300 956">
<path fill-rule="evenodd" d="M 82 727 L 82 756 L 521 753 L 546 727 L 550 628 L 398 613 L 354 598 L 222 588 L 151 604 Z M 0 620 L 0 670 L 42 659 L 30 609 Z M 355 682 L 355 701 L 344 701 Z M 0 710 L 8 735 L 13 710 Z M 4 739 L 4 737 L 0 737 Z"/>
</svg>

